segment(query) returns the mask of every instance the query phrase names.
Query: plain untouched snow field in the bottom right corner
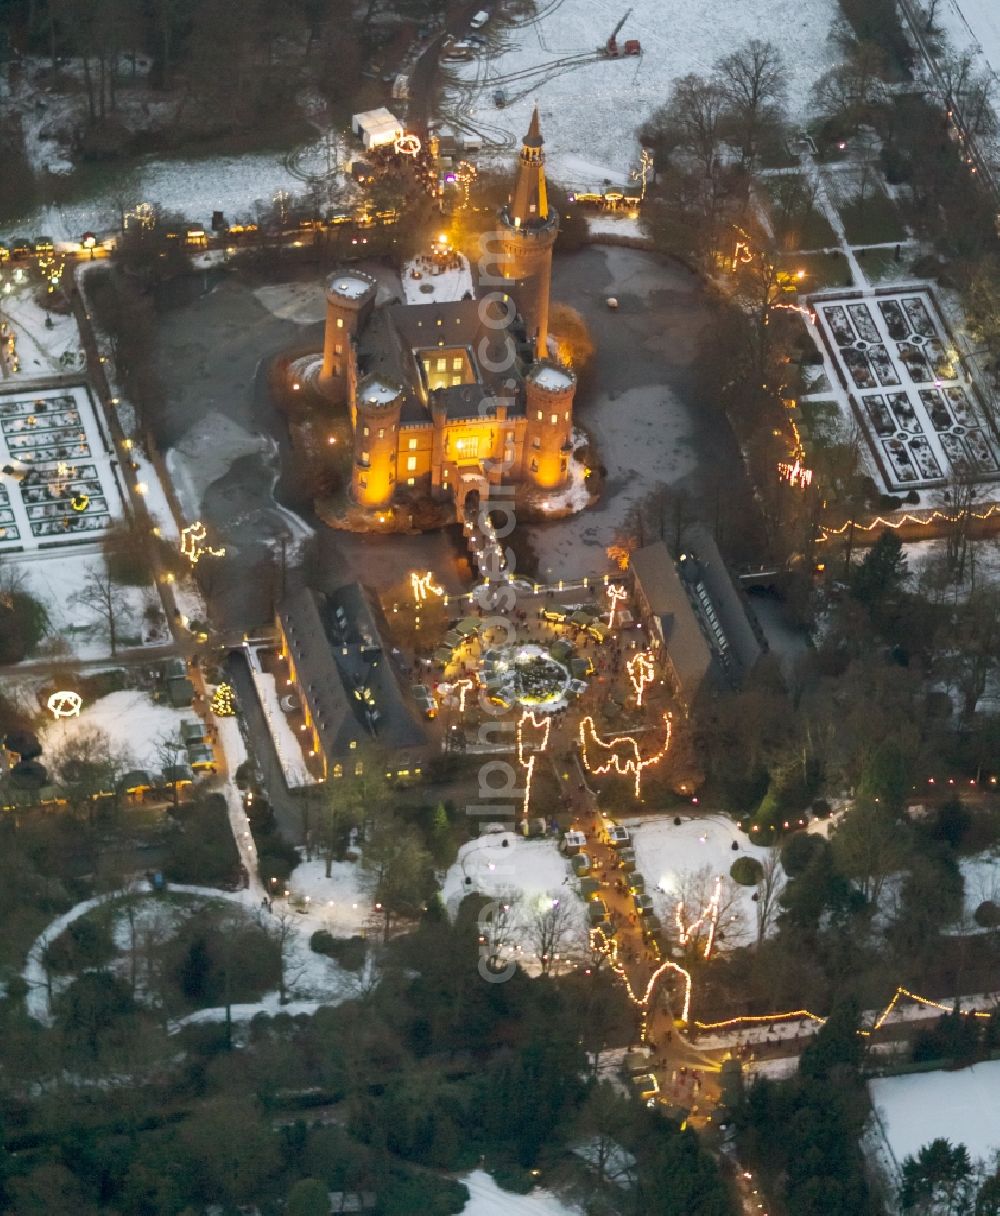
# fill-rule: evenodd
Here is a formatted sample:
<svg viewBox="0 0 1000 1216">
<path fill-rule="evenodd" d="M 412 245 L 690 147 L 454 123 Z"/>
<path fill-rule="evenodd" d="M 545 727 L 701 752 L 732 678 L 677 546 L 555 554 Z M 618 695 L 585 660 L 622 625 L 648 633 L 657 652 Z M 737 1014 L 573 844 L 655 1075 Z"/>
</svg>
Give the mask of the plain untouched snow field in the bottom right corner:
<svg viewBox="0 0 1000 1216">
<path fill-rule="evenodd" d="M 1000 1060 L 956 1073 L 918 1073 L 869 1081 L 872 1105 L 897 1165 L 939 1136 L 965 1144 L 972 1160 L 1000 1149 Z"/>
</svg>

